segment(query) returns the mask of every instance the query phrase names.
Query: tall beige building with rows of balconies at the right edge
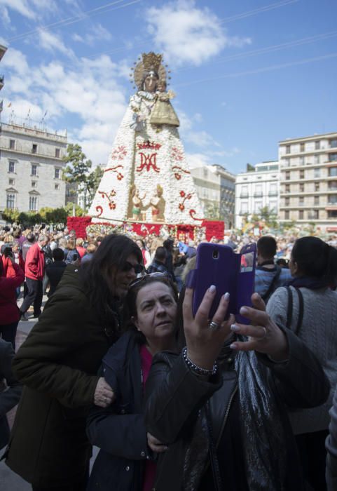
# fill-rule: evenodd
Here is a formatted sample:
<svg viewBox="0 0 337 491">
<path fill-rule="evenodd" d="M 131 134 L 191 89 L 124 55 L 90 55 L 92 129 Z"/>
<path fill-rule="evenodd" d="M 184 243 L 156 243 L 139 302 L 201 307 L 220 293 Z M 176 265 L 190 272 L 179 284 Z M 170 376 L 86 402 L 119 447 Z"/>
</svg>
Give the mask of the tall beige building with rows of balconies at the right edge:
<svg viewBox="0 0 337 491">
<path fill-rule="evenodd" d="M 280 221 L 337 230 L 337 133 L 279 144 Z"/>
</svg>

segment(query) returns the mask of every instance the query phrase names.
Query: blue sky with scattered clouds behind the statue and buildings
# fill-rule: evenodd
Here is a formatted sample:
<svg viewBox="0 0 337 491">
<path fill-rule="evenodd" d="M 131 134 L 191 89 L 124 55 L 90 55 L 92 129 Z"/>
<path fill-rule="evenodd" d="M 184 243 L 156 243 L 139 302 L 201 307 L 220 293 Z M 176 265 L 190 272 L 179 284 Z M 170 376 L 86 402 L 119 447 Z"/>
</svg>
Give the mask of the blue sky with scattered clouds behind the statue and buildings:
<svg viewBox="0 0 337 491">
<path fill-rule="evenodd" d="M 336 15 L 335 0 L 0 0 L 2 120 L 47 112 L 106 163 L 130 67 L 156 51 L 188 160 L 238 173 L 279 140 L 337 130 Z"/>
</svg>

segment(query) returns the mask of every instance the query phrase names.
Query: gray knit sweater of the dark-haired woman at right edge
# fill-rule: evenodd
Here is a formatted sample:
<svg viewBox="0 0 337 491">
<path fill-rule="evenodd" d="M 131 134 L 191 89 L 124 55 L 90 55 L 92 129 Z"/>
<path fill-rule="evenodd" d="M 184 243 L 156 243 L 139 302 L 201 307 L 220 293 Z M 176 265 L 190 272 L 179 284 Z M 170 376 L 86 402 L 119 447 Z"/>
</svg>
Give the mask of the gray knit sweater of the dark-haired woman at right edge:
<svg viewBox="0 0 337 491">
<path fill-rule="evenodd" d="M 293 287 L 293 314 L 291 330 L 296 330 L 299 304 Z M 337 384 L 337 292 L 329 288 L 309 290 L 301 288 L 303 295 L 303 321 L 299 337 L 317 356 L 331 384 L 326 403 L 312 409 L 292 411 L 291 426 L 296 435 L 321 431 L 329 426 L 329 409 Z M 275 323 L 287 324 L 288 294 L 286 288 L 277 288 L 267 304 L 267 312 Z"/>
</svg>

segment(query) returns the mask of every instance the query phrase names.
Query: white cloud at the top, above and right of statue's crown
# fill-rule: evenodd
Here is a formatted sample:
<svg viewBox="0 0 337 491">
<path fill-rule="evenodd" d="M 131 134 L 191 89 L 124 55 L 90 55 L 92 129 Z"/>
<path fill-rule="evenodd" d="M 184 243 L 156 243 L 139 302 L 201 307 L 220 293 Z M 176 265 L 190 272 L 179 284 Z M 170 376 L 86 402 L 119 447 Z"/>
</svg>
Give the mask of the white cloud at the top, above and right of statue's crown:
<svg viewBox="0 0 337 491">
<path fill-rule="evenodd" d="M 194 0 L 177 0 L 163 7 L 150 7 L 145 18 L 148 32 L 165 60 L 172 65 L 201 65 L 226 46 L 243 46 L 250 40 L 228 36 L 219 18 Z"/>
</svg>

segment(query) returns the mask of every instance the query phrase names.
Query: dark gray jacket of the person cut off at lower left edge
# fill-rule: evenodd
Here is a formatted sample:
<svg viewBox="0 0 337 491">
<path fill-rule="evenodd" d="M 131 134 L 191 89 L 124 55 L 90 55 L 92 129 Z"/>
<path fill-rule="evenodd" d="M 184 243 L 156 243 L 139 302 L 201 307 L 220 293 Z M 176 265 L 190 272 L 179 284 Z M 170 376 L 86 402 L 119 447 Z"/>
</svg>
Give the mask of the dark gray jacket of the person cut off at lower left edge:
<svg viewBox="0 0 337 491">
<path fill-rule="evenodd" d="M 0 339 L 0 448 L 8 443 L 9 426 L 6 413 L 18 404 L 22 386 L 12 373 L 15 355 L 12 344 Z"/>
</svg>

